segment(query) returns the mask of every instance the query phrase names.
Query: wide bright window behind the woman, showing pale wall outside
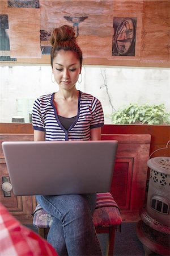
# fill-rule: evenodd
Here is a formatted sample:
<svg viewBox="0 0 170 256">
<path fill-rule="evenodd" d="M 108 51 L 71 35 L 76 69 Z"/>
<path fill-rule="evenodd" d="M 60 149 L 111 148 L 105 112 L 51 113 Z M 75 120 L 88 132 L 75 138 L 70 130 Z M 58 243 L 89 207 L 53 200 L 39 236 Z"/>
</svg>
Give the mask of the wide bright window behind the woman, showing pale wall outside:
<svg viewBox="0 0 170 256">
<path fill-rule="evenodd" d="M 42 94 L 56 92 L 58 85 L 52 82 L 50 65 L 1 65 L 0 66 L 0 122 L 12 122 L 12 117 L 24 117 L 30 122 L 33 101 Z M 168 68 L 140 67 L 97 67 L 83 66 L 82 82 L 76 88 L 99 98 L 103 106 L 105 124 L 114 124 L 113 114 L 124 109 L 124 114 L 116 121 L 135 121 L 140 112 L 139 122 L 145 121 L 142 116 L 145 109 L 138 109 L 143 104 L 160 105 L 169 112 L 169 81 Z M 127 109 L 129 104 L 133 107 Z M 146 107 L 146 106 L 145 106 Z M 147 118 L 162 117 L 159 109 L 147 109 Z M 137 113 L 138 112 L 138 113 Z M 144 119 L 143 119 L 144 118 Z M 159 121 L 159 118 L 156 119 Z M 152 124 L 152 123 L 149 123 Z M 156 124 L 156 123 L 154 123 Z M 159 124 L 159 123 L 158 123 Z"/>
</svg>

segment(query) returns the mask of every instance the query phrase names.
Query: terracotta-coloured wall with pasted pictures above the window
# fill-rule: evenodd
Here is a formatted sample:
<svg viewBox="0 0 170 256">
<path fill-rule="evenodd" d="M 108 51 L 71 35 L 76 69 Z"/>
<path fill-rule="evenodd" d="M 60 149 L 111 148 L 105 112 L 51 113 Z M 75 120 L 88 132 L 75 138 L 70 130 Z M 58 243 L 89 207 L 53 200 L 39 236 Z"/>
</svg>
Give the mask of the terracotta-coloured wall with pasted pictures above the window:
<svg viewBox="0 0 170 256">
<path fill-rule="evenodd" d="M 69 24 L 79 34 L 84 64 L 170 67 L 170 1 L 39 0 L 31 1 L 32 6 L 14 2 L 0 1 L 2 63 L 50 63 L 50 33 Z M 121 26 L 125 18 L 133 20 L 134 28 L 131 22 Z M 125 51 L 133 37 L 134 51 L 114 55 L 115 42 Z"/>
</svg>

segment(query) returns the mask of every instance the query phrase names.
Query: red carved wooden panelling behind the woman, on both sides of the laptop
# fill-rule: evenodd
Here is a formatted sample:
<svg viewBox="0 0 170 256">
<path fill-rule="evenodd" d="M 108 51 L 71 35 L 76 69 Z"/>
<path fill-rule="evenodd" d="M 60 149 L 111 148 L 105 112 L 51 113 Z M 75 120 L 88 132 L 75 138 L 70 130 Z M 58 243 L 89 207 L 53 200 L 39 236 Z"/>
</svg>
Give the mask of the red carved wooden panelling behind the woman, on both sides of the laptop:
<svg viewBox="0 0 170 256">
<path fill-rule="evenodd" d="M 138 221 L 139 210 L 145 202 L 151 135 L 102 135 L 101 139 L 118 141 L 111 193 L 120 207 L 122 219 L 126 222 Z M 0 134 L 0 144 L 3 141 L 32 140 L 32 134 Z M 8 176 L 2 146 L 0 146 L 0 159 L 2 180 L 2 176 Z M 1 189 L 0 200 L 21 222 L 27 224 L 32 222 L 31 213 L 35 208 L 35 197 L 14 196 L 12 192 L 10 197 L 5 197 Z"/>
</svg>

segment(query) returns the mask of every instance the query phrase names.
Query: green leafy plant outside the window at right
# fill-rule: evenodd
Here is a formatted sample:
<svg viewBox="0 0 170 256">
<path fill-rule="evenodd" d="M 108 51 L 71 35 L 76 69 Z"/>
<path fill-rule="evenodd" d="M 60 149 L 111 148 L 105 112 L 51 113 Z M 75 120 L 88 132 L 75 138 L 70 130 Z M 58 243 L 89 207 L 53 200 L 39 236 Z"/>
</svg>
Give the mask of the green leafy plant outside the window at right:
<svg viewBox="0 0 170 256">
<path fill-rule="evenodd" d="M 169 125 L 170 112 L 165 112 L 164 104 L 130 104 L 124 109 L 111 114 L 113 124 L 146 124 L 146 125 Z"/>
</svg>

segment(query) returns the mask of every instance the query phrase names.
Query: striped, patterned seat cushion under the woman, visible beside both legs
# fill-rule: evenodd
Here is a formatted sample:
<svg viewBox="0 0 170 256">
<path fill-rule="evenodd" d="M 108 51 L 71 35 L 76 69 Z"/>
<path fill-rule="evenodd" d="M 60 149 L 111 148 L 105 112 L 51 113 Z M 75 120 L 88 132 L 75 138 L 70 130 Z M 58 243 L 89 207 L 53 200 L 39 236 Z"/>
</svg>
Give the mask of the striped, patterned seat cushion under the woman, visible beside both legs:
<svg viewBox="0 0 170 256">
<path fill-rule="evenodd" d="M 97 193 L 96 209 L 92 217 L 96 227 L 121 224 L 120 210 L 111 193 Z M 53 217 L 38 204 L 33 212 L 33 225 L 39 228 L 50 228 L 52 222 Z"/>
</svg>

